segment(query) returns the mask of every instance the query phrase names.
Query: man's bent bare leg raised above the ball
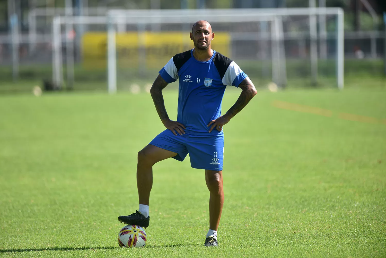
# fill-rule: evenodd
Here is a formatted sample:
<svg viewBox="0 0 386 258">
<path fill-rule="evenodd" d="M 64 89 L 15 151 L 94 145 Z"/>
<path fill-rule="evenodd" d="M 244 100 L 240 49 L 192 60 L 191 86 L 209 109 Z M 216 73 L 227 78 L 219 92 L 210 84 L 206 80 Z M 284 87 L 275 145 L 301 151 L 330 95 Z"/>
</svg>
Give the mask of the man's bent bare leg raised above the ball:
<svg viewBox="0 0 386 258">
<path fill-rule="evenodd" d="M 175 155 L 177 155 L 176 152 L 164 150 L 151 144 L 138 152 L 137 188 L 139 204 L 149 205 L 150 191 L 153 186 L 153 165 Z"/>
</svg>

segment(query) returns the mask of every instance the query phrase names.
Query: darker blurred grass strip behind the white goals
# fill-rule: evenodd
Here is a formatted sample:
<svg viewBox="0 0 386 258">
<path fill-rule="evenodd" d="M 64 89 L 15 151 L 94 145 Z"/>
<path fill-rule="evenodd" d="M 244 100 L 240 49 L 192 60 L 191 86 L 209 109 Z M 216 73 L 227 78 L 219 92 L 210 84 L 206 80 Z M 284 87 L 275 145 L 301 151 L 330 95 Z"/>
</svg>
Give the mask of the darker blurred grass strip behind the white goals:
<svg viewBox="0 0 386 258">
<path fill-rule="evenodd" d="M 91 62 L 88 60 L 88 62 Z M 97 61 L 97 63 L 102 60 Z M 146 72 L 139 72 L 133 65 L 119 64 L 117 67 L 117 89 L 118 91 L 129 91 L 132 84 L 138 84 L 143 90 L 146 84 L 151 84 L 159 67 L 165 61 L 160 61 L 158 65 L 152 64 Z M 103 63 L 103 62 L 102 62 Z M 261 87 L 272 80 L 271 63 L 256 60 L 237 60 L 237 63 L 249 75 L 257 87 Z M 156 67 L 156 68 L 154 68 Z M 267 73 L 263 73 L 267 67 Z M 334 59 L 318 61 L 318 85 L 319 88 L 336 88 L 336 61 Z M 384 75 L 384 62 L 382 59 L 350 59 L 346 58 L 344 63 L 345 87 L 383 87 L 386 89 L 386 77 Z M 20 65 L 19 79 L 16 81 L 12 77 L 12 67 L 0 66 L 0 95 L 3 94 L 30 94 L 35 85 L 43 87 L 43 80 L 52 81 L 51 64 Z M 312 84 L 310 61 L 288 59 L 286 61 L 287 87 L 294 88 L 315 88 Z M 71 88 L 66 85 L 66 69 L 63 70 L 63 90 Z M 171 84 L 168 88 L 177 89 L 178 84 Z M 74 66 L 74 91 L 106 91 L 107 72 L 106 67 L 90 67 L 82 62 Z"/>
</svg>

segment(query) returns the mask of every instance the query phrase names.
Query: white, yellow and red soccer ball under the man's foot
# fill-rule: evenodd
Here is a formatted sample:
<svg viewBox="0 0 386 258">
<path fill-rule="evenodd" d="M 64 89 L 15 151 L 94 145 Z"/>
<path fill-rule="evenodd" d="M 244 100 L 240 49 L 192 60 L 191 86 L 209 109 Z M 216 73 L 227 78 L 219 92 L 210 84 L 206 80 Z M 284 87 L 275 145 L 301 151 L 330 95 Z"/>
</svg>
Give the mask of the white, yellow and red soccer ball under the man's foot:
<svg viewBox="0 0 386 258">
<path fill-rule="evenodd" d="M 146 239 L 144 229 L 137 225 L 126 225 L 122 227 L 118 234 L 120 247 L 143 247 L 146 244 Z"/>
</svg>

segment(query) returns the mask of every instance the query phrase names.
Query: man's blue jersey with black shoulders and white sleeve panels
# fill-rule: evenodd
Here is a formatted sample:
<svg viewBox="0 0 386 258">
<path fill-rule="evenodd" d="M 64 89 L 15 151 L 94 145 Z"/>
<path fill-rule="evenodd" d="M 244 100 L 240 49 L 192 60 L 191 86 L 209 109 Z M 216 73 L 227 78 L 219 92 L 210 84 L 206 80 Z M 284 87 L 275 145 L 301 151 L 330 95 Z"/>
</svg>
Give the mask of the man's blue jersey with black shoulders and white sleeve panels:
<svg viewBox="0 0 386 258">
<path fill-rule="evenodd" d="M 193 50 L 179 53 L 159 71 L 167 82 L 179 78 L 177 121 L 186 133 L 208 135 L 208 123 L 221 115 L 225 87 L 238 87 L 247 77 L 232 60 L 213 50 L 210 60 L 197 61 Z M 210 134 L 220 133 L 212 130 Z"/>
</svg>

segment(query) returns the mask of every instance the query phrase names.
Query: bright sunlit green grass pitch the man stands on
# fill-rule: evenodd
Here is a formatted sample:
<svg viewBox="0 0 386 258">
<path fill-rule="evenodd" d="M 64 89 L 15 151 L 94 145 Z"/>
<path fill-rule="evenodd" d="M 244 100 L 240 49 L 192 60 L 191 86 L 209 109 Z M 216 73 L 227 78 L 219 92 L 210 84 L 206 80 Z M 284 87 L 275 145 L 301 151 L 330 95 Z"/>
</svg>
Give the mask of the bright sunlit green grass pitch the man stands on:
<svg viewBox="0 0 386 258">
<path fill-rule="evenodd" d="M 176 118 L 177 92 L 164 97 Z M 163 130 L 151 97 L 0 96 L 0 257 L 385 257 L 385 99 L 259 92 L 224 126 L 219 248 L 203 246 L 209 192 L 187 157 L 154 166 L 149 240 L 122 249 L 137 152 Z"/>
</svg>

